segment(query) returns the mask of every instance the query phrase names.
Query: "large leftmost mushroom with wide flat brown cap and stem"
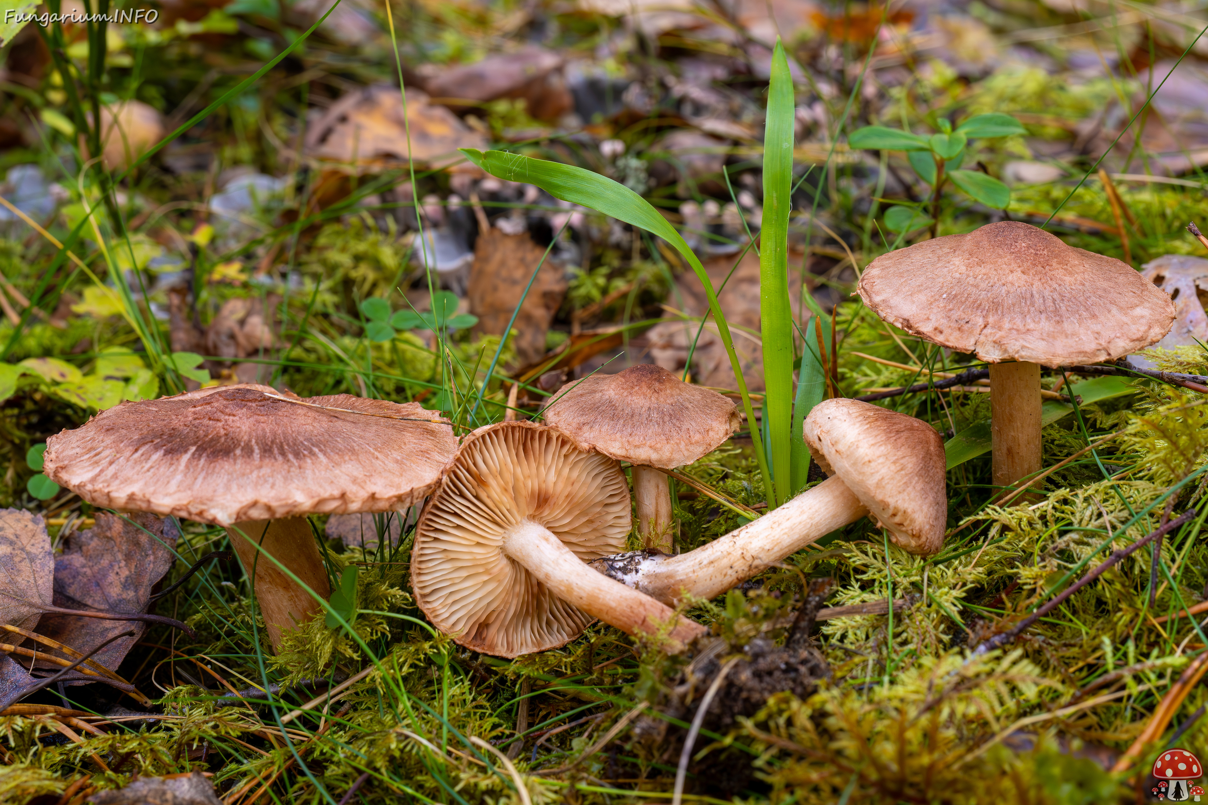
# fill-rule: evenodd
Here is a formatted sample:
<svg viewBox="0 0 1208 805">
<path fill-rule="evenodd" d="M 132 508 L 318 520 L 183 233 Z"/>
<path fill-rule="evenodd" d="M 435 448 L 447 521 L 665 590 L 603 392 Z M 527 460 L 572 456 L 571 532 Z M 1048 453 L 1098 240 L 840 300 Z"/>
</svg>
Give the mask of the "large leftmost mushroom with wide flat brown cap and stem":
<svg viewBox="0 0 1208 805">
<path fill-rule="evenodd" d="M 43 472 L 93 506 L 226 526 L 275 649 L 330 591 L 306 515 L 411 506 L 455 449 L 419 403 L 230 389 L 103 410 L 47 439 Z"/>
</svg>

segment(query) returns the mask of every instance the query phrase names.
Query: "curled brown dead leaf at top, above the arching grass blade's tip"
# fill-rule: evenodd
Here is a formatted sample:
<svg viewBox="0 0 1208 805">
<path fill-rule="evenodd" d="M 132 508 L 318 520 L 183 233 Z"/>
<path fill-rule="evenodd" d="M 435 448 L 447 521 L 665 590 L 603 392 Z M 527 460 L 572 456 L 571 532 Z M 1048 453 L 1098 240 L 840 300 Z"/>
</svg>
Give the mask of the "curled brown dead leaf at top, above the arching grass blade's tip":
<svg viewBox="0 0 1208 805">
<path fill-rule="evenodd" d="M 574 98 L 562 76 L 563 64 L 565 60 L 553 51 L 529 46 L 447 69 L 429 78 L 424 89 L 436 103 L 458 111 L 477 107 L 477 104 L 458 104 L 458 100 L 523 99 L 532 117 L 556 123 L 574 107 Z"/>
</svg>

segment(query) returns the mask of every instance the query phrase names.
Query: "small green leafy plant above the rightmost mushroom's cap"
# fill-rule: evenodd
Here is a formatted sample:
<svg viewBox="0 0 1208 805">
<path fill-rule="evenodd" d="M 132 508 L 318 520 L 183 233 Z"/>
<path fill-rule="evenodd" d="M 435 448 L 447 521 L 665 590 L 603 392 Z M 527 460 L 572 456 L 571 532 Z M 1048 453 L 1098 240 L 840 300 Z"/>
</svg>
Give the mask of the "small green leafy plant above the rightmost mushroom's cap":
<svg viewBox="0 0 1208 805">
<path fill-rule="evenodd" d="M 1011 188 L 1006 185 L 980 170 L 965 170 L 960 165 L 970 140 L 1026 134 L 1020 121 L 1001 112 L 989 112 L 974 115 L 957 128 L 941 117 L 936 128 L 940 130 L 935 134 L 923 136 L 884 126 L 865 126 L 847 138 L 853 148 L 905 151 L 918 177 L 931 186 L 931 216 L 920 216 L 918 209 L 910 206 L 890 206 L 885 210 L 885 228 L 892 232 L 931 226 L 934 234 L 940 218 L 941 193 L 948 180 L 975 202 L 995 210 L 1005 210 L 1011 203 Z"/>
</svg>

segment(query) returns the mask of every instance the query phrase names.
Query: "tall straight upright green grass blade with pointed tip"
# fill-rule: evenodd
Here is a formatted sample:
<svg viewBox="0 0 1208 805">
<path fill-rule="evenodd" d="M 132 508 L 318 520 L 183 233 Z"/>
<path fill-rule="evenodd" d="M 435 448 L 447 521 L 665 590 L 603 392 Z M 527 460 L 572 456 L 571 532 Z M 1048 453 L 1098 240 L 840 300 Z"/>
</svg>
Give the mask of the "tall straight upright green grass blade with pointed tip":
<svg viewBox="0 0 1208 805">
<path fill-rule="evenodd" d="M 763 130 L 763 227 L 760 232 L 760 328 L 763 336 L 763 398 L 768 462 L 776 501 L 792 492 L 792 309 L 789 305 L 789 215 L 792 211 L 792 75 L 784 46 L 772 52 L 772 82 Z"/>
</svg>

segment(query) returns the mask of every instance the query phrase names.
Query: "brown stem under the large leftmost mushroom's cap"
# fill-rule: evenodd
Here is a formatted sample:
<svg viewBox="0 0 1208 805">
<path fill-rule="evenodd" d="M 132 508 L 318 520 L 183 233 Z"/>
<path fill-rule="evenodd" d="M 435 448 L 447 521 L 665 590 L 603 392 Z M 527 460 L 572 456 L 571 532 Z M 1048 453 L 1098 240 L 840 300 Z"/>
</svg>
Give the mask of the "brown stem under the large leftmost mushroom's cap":
<svg viewBox="0 0 1208 805">
<path fill-rule="evenodd" d="M 273 560 L 260 553 L 263 550 L 274 556 L 303 584 L 326 600 L 331 595 L 327 568 L 323 565 L 310 524 L 304 517 L 246 520 L 230 526 L 227 533 L 244 573 L 252 578 L 255 568 L 252 589 L 256 591 L 256 603 L 265 616 L 268 640 L 275 652 L 284 631 L 294 629 L 323 607 L 297 582 L 283 573 Z M 256 549 L 256 543 L 260 544 L 260 550 Z"/>
</svg>

